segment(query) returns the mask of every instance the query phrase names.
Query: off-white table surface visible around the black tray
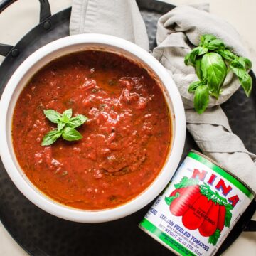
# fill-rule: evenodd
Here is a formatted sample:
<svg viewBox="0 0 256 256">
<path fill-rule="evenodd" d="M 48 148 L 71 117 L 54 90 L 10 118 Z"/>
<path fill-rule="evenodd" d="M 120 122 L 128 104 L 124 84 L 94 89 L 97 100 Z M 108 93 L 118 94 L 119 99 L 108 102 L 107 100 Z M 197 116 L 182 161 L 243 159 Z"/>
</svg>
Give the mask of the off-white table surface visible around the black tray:
<svg viewBox="0 0 256 256">
<path fill-rule="evenodd" d="M 0 0 L 1 1 L 1 0 Z M 238 30 L 256 73 L 256 0 L 164 0 L 171 4 L 210 3 L 210 11 L 222 16 Z M 71 0 L 50 0 L 51 11 L 61 11 L 71 5 Z M 14 18 L 17 23 L 14 22 Z M 36 26 L 39 18 L 39 2 L 18 0 L 0 15 L 0 43 L 14 45 L 25 33 Z M 1 61 L 1 58 L 0 58 Z M 254 218 L 256 220 L 256 218 Z M 0 223 L 0 256 L 27 256 L 28 254 L 11 238 Z M 225 256 L 256 256 L 256 233 L 242 233 L 240 238 L 224 253 Z M 71 256 L 71 255 L 69 255 Z"/>
</svg>

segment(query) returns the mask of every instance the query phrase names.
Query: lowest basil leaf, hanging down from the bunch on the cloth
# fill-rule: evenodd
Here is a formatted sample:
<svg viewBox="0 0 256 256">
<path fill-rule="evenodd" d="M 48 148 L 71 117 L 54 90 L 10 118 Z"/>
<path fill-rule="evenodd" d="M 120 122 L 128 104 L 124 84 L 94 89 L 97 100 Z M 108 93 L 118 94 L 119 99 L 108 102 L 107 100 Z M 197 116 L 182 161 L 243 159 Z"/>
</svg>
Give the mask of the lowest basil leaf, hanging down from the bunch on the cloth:
<svg viewBox="0 0 256 256">
<path fill-rule="evenodd" d="M 209 103 L 209 88 L 207 85 L 199 85 L 195 91 L 194 107 L 198 114 L 202 114 Z"/>
</svg>

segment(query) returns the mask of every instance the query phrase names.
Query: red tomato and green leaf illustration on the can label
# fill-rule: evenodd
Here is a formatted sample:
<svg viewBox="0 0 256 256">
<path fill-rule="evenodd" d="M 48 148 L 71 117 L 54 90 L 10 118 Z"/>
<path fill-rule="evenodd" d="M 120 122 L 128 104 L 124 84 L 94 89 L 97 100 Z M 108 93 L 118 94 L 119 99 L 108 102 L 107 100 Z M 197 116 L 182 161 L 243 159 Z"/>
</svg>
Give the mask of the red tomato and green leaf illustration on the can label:
<svg viewBox="0 0 256 256">
<path fill-rule="evenodd" d="M 224 226 L 230 226 L 233 206 L 206 183 L 199 184 L 197 178 L 183 177 L 174 188 L 165 197 L 171 214 L 180 216 L 184 227 L 198 229 L 210 244 L 216 245 Z"/>
</svg>

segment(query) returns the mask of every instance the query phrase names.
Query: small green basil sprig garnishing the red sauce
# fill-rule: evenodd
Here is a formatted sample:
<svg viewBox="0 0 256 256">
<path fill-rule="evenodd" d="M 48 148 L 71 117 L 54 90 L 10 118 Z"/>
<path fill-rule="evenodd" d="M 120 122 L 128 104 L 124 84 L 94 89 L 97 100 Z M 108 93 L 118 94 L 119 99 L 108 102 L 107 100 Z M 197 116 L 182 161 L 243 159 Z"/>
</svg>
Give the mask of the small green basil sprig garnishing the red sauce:
<svg viewBox="0 0 256 256">
<path fill-rule="evenodd" d="M 85 123 L 88 119 L 87 117 L 82 114 L 72 117 L 72 109 L 65 110 L 63 114 L 60 114 L 55 110 L 43 110 L 43 113 L 50 122 L 58 125 L 57 129 L 51 130 L 43 137 L 41 143 L 42 146 L 53 144 L 60 136 L 69 142 L 82 139 L 82 134 L 75 128 L 80 127 L 80 125 Z"/>
</svg>

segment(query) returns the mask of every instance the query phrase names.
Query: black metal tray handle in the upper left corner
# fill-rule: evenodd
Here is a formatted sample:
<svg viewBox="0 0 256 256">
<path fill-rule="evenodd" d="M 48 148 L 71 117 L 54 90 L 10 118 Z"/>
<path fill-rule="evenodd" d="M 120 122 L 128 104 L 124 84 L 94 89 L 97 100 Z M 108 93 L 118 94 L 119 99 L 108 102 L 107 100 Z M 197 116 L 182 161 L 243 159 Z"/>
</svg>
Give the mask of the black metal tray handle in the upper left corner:
<svg viewBox="0 0 256 256">
<path fill-rule="evenodd" d="M 15 1 L 17 0 L 2 0 L 0 2 L 0 14 L 2 11 L 4 11 L 4 9 L 6 9 L 11 4 L 13 4 Z M 50 18 L 51 16 L 50 4 L 48 0 L 38 0 L 38 1 L 40 2 L 39 23 L 43 23 L 43 28 L 48 30 L 51 26 L 50 21 L 47 21 L 47 19 Z M 18 49 L 14 49 L 14 46 L 0 43 L 0 55 L 5 57 L 9 53 L 11 53 L 13 57 L 16 57 L 18 56 L 19 51 Z"/>
</svg>

